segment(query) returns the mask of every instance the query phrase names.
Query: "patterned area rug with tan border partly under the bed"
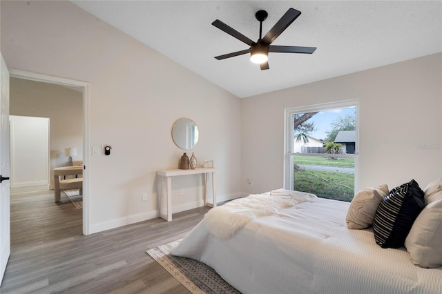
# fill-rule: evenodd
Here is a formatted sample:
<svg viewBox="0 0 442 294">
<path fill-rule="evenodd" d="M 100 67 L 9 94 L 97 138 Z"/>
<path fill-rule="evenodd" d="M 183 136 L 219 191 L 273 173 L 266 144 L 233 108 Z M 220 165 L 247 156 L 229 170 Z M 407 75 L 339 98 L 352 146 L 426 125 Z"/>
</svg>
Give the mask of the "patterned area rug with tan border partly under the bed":
<svg viewBox="0 0 442 294">
<path fill-rule="evenodd" d="M 170 242 L 146 251 L 193 294 L 238 293 L 229 283 L 222 280 L 213 268 L 195 259 L 171 255 L 169 251 L 181 241 Z"/>
</svg>

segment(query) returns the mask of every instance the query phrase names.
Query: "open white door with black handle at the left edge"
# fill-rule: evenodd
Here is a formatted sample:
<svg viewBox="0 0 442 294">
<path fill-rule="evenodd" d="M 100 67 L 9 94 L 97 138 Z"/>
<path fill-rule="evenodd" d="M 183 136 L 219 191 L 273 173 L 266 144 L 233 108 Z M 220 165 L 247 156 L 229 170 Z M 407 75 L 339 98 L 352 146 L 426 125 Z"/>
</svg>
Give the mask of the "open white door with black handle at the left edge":
<svg viewBox="0 0 442 294">
<path fill-rule="evenodd" d="M 0 285 L 8 263 L 10 244 L 9 72 L 0 53 Z"/>
</svg>

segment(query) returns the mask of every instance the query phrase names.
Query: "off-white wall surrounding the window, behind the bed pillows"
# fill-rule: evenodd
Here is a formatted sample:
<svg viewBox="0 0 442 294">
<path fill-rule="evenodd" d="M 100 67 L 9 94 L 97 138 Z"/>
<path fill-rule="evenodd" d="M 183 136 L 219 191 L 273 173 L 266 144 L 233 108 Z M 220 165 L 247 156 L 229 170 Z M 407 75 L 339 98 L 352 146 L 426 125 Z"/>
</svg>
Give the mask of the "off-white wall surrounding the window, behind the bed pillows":
<svg viewBox="0 0 442 294">
<path fill-rule="evenodd" d="M 282 187 L 285 108 L 348 99 L 359 99 L 359 188 L 410 179 L 425 188 L 441 177 L 441 56 L 242 99 L 242 191 Z"/>
</svg>

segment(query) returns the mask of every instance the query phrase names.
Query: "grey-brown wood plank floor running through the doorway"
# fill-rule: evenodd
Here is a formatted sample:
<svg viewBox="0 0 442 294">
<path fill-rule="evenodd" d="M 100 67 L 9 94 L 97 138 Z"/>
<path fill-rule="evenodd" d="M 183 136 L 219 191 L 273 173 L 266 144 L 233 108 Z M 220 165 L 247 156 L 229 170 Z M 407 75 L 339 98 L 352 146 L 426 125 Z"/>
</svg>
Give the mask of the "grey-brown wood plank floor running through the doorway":
<svg viewBox="0 0 442 294">
<path fill-rule="evenodd" d="M 0 293 L 190 293 L 145 252 L 186 235 L 209 208 L 82 235 L 64 193 L 11 191 L 11 255 Z"/>
</svg>

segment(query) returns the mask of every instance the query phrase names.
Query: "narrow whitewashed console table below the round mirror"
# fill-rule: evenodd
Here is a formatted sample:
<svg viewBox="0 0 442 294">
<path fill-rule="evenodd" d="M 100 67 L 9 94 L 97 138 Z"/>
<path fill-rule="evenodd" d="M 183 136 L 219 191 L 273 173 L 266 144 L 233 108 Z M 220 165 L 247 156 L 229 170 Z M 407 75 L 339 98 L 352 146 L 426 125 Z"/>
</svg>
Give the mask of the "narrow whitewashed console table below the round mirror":
<svg viewBox="0 0 442 294">
<path fill-rule="evenodd" d="M 172 177 L 182 176 L 182 175 L 198 175 L 204 174 L 204 205 L 215 207 L 216 206 L 216 195 L 215 195 L 215 172 L 216 168 L 195 168 L 194 170 L 158 170 L 157 175 L 164 177 L 167 182 L 166 197 L 163 195 L 163 189 L 161 189 L 160 195 L 160 217 L 166 219 L 170 222 L 172 220 Z M 212 200 L 213 203 L 206 202 L 207 195 L 207 177 L 208 175 L 212 177 Z M 164 182 L 164 181 L 163 181 Z"/>
</svg>

